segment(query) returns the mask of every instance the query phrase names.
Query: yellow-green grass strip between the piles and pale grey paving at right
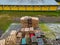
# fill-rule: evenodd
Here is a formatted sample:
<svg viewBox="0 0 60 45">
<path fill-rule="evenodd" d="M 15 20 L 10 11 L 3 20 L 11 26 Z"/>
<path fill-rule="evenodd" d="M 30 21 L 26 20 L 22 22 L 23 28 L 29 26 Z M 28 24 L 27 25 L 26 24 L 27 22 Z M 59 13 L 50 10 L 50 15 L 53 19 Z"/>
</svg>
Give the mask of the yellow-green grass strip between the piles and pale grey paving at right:
<svg viewBox="0 0 60 45">
<path fill-rule="evenodd" d="M 39 24 L 39 26 L 40 26 L 42 32 L 45 33 L 45 36 L 47 38 L 55 39 L 55 34 L 44 23 Z"/>
</svg>

